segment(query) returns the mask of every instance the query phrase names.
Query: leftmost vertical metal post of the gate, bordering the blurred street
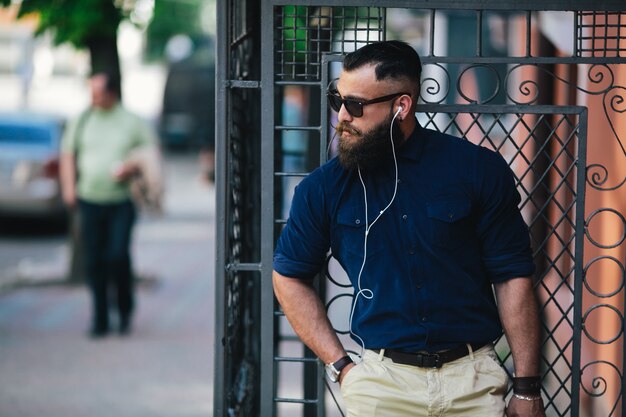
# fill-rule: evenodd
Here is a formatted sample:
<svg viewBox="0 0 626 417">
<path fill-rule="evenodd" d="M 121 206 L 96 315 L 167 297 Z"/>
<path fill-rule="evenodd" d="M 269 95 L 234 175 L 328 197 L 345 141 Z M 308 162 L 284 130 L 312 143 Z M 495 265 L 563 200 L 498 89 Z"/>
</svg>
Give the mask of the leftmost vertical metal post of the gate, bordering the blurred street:
<svg viewBox="0 0 626 417">
<path fill-rule="evenodd" d="M 228 76 L 228 46 L 230 2 L 225 7 L 217 8 L 217 36 L 216 67 L 215 67 L 215 238 L 221 244 L 215 245 L 215 366 L 213 373 L 213 415 L 226 416 L 226 380 L 225 380 L 225 352 L 223 340 L 225 337 L 226 318 L 226 248 L 228 245 L 226 221 L 226 149 L 228 147 L 228 94 L 226 79 Z"/>
</svg>

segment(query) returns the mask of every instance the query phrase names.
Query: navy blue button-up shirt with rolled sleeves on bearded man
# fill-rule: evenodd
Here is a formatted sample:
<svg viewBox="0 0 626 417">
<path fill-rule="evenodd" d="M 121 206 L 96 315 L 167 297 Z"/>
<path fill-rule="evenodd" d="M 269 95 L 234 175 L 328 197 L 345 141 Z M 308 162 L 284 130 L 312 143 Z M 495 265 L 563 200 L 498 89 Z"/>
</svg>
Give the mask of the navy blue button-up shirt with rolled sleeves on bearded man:
<svg viewBox="0 0 626 417">
<path fill-rule="evenodd" d="M 502 328 L 491 284 L 534 272 L 511 170 L 495 152 L 420 126 L 397 162 L 396 198 L 367 245 L 366 223 L 393 195 L 393 163 L 363 173 L 367 217 L 358 172 L 337 158 L 303 179 L 274 269 L 312 279 L 330 248 L 361 290 L 352 331 L 368 349 L 436 351 L 496 339 Z"/>
</svg>

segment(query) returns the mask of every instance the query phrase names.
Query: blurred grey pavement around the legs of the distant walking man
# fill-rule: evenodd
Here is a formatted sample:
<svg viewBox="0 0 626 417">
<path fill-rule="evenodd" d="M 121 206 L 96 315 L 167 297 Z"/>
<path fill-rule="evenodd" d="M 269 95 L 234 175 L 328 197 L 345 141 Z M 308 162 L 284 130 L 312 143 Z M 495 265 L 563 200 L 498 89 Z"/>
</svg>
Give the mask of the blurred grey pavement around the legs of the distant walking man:
<svg viewBox="0 0 626 417">
<path fill-rule="evenodd" d="M 89 294 L 62 282 L 63 233 L 0 235 L 0 416 L 212 414 L 214 188 L 166 156 L 162 217 L 143 216 L 130 336 L 87 338 Z"/>
</svg>

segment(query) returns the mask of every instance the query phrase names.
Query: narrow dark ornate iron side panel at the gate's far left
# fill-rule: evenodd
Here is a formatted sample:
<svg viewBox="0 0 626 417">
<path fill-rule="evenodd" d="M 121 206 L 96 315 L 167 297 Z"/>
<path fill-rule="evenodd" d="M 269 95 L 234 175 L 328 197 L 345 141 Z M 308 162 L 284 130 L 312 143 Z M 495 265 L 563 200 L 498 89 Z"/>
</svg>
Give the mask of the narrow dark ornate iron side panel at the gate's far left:
<svg viewBox="0 0 626 417">
<path fill-rule="evenodd" d="M 255 132 L 259 101 L 259 28 L 254 2 L 229 0 L 219 8 L 218 25 L 228 42 L 217 44 L 216 105 L 216 296 L 214 414 L 257 415 L 260 383 L 259 300 L 260 146 Z"/>
</svg>

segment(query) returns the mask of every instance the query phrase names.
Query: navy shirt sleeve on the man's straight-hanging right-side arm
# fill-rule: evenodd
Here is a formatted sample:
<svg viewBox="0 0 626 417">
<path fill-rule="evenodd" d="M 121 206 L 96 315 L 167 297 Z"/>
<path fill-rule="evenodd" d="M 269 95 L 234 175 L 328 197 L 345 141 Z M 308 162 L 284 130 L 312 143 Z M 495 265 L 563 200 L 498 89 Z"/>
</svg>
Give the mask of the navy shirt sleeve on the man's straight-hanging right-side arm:
<svg viewBox="0 0 626 417">
<path fill-rule="evenodd" d="M 504 159 L 484 149 L 479 153 L 481 210 L 477 232 L 482 243 L 483 265 L 492 282 L 534 273 L 528 227 L 518 205 L 513 173 Z"/>
</svg>

